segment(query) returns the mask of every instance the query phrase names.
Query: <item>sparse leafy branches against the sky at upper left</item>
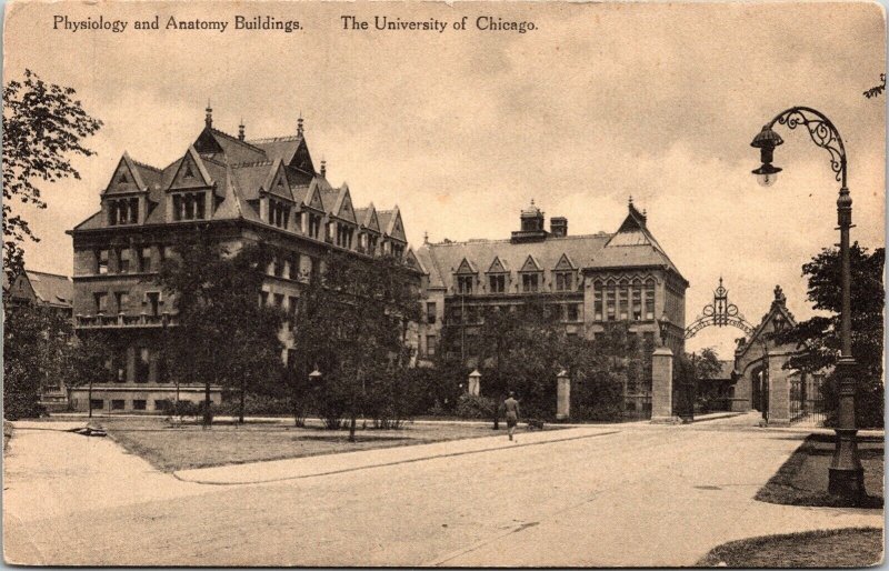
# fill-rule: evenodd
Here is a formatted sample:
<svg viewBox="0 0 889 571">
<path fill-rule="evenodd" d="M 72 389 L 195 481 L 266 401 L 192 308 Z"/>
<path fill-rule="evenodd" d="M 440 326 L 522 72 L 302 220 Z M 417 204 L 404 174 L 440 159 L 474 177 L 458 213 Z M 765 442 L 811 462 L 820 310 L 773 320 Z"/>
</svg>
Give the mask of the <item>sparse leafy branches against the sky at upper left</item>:
<svg viewBox="0 0 889 571">
<path fill-rule="evenodd" d="M 10 282 L 24 268 L 22 242 L 39 240 L 24 218 L 12 216 L 10 202 L 47 208 L 38 181 L 79 179 L 70 156 L 93 154 L 81 140 L 102 123 L 73 96 L 73 89 L 46 83 L 30 70 L 3 88 L 3 268 Z"/>
</svg>

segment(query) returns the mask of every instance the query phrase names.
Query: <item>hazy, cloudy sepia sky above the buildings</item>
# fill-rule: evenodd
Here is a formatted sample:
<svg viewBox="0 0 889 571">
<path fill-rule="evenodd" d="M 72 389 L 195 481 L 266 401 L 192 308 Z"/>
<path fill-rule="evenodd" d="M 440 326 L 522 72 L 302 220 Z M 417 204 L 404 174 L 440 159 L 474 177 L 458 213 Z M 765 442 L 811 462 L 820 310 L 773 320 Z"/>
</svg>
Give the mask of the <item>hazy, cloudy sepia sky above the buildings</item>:
<svg viewBox="0 0 889 571">
<path fill-rule="evenodd" d="M 297 20 L 300 30 L 133 30 L 134 20 Z M 122 33 L 53 29 L 123 20 Z M 369 21 L 343 30 L 342 16 Z M 374 17 L 448 24 L 377 31 Z M 467 17 L 467 29 L 452 23 Z M 535 29 L 479 30 L 478 17 Z M 793 106 L 828 116 L 843 138 L 852 239 L 885 243 L 885 14 L 846 3 L 21 3 L 4 20 L 4 81 L 26 68 L 70 86 L 103 122 L 77 159 L 81 180 L 44 186 L 49 208 L 19 208 L 41 238 L 36 270 L 70 274 L 64 233 L 99 209 L 123 151 L 166 167 L 203 127 L 293 134 L 301 114 L 316 163 L 348 181 L 357 206 L 398 204 L 414 248 L 508 238 L 531 199 L 569 233 L 613 232 L 627 202 L 690 282 L 687 324 L 720 277 L 753 324 L 780 284 L 812 314 L 801 266 L 838 241 L 839 184 L 827 151 L 779 127 L 778 182 L 759 187 L 749 143 Z M 709 328 L 689 350 L 729 358 L 737 330 Z"/>
</svg>

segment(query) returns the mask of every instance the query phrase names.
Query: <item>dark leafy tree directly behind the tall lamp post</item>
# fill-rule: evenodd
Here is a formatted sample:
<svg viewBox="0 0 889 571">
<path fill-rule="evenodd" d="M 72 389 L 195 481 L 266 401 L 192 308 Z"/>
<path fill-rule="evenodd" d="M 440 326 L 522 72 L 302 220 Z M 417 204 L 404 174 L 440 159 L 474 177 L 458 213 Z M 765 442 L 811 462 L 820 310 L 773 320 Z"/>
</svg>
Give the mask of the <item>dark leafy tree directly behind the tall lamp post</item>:
<svg viewBox="0 0 889 571">
<path fill-rule="evenodd" d="M 868 252 L 858 242 L 849 252 L 851 268 L 852 357 L 858 363 L 856 418 L 859 425 L 882 425 L 882 340 L 885 249 Z M 813 309 L 829 312 L 797 323 L 776 335 L 776 341 L 797 347 L 785 365 L 813 373 L 831 369 L 840 355 L 841 261 L 837 248 L 821 250 L 802 266 L 809 278 L 808 299 Z M 831 372 L 822 387 L 825 404 L 835 421 L 839 402 L 839 379 Z"/>
</svg>

